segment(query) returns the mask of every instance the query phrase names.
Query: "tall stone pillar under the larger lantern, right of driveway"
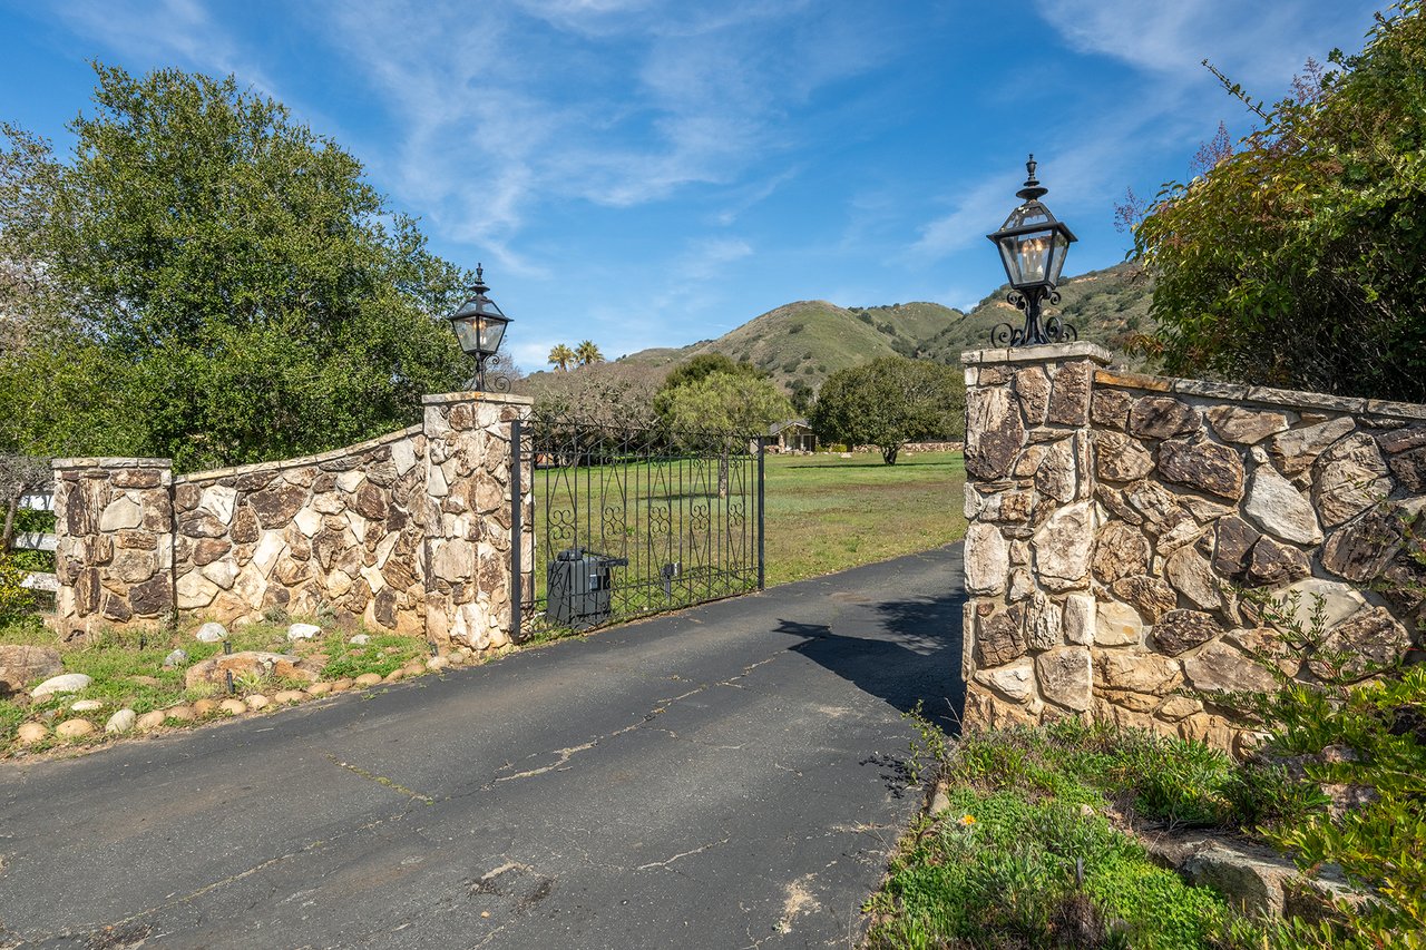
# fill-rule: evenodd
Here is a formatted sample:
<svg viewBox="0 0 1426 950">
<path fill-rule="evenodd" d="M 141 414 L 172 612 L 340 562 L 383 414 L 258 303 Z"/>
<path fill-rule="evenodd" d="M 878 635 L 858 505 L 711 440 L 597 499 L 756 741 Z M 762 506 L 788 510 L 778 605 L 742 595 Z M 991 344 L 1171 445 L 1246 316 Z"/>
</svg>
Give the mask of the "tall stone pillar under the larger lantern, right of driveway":
<svg viewBox="0 0 1426 950">
<path fill-rule="evenodd" d="M 965 725 L 1088 716 L 1097 512 L 1091 395 L 1109 352 L 1054 344 L 965 364 Z"/>
</svg>

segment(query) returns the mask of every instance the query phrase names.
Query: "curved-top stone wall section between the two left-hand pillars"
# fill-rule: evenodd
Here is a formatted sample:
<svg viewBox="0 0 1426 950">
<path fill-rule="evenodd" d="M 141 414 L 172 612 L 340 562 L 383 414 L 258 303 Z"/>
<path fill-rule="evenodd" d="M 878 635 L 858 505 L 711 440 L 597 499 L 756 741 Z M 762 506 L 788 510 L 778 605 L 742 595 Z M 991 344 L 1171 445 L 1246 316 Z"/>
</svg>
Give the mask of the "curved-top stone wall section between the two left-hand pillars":
<svg viewBox="0 0 1426 950">
<path fill-rule="evenodd" d="M 230 623 L 268 608 L 424 633 L 426 436 L 174 479 L 174 592 Z"/>
</svg>

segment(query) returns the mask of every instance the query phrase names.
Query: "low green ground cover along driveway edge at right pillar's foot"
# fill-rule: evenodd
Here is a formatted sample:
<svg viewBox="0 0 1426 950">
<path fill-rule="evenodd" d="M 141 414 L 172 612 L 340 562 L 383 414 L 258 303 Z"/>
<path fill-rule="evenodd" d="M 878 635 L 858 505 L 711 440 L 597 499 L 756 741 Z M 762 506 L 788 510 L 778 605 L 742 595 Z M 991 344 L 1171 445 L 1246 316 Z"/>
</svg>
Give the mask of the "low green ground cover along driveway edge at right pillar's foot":
<svg viewBox="0 0 1426 950">
<path fill-rule="evenodd" d="M 1225 756 L 1060 723 L 965 736 L 943 765 L 944 807 L 911 829 L 868 902 L 868 946 L 1188 950 L 1235 921 L 1219 894 L 1152 863 L 1117 826 L 1124 809 L 1199 817 L 1196 793 L 1166 789 L 1188 787 L 1184 775 L 1224 779 Z"/>
</svg>

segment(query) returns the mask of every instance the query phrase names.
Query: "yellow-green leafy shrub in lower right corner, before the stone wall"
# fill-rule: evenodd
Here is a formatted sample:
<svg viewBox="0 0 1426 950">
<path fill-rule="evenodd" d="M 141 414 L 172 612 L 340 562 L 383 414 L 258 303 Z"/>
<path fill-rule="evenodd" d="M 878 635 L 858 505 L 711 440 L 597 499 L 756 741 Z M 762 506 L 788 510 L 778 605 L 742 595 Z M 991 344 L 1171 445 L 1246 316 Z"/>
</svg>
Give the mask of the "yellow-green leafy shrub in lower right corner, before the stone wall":
<svg viewBox="0 0 1426 950">
<path fill-rule="evenodd" d="M 1426 553 L 1409 551 L 1426 563 Z M 1259 790 L 1252 799 L 1278 810 L 1259 832 L 1305 872 L 1336 864 L 1369 894 L 1362 903 L 1336 902 L 1333 919 L 1278 936 L 1285 946 L 1419 947 L 1426 933 L 1426 666 L 1328 649 L 1320 598 L 1305 623 L 1296 599 L 1252 602 L 1313 673 L 1289 679 L 1259 658 L 1279 679 L 1275 692 L 1248 698 L 1252 715 L 1272 730 L 1259 757 L 1291 762 L 1313 786 L 1356 792 L 1353 807 L 1326 810 L 1313 807 L 1320 799 Z"/>
</svg>

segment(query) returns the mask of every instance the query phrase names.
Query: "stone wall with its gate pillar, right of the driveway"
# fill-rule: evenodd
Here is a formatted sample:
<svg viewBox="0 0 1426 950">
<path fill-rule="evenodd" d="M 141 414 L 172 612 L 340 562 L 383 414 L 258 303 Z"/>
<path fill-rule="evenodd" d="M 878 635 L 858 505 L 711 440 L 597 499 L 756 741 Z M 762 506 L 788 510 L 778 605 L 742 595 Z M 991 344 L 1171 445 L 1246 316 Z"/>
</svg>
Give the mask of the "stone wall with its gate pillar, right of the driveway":
<svg viewBox="0 0 1426 950">
<path fill-rule="evenodd" d="M 1426 407 L 1107 369 L 1092 344 L 963 355 L 968 725 L 1111 719 L 1241 749 L 1282 653 L 1245 589 L 1320 601 L 1365 669 L 1426 629 L 1403 553 Z M 1279 656 L 1310 676 L 1310 665 Z"/>
</svg>

